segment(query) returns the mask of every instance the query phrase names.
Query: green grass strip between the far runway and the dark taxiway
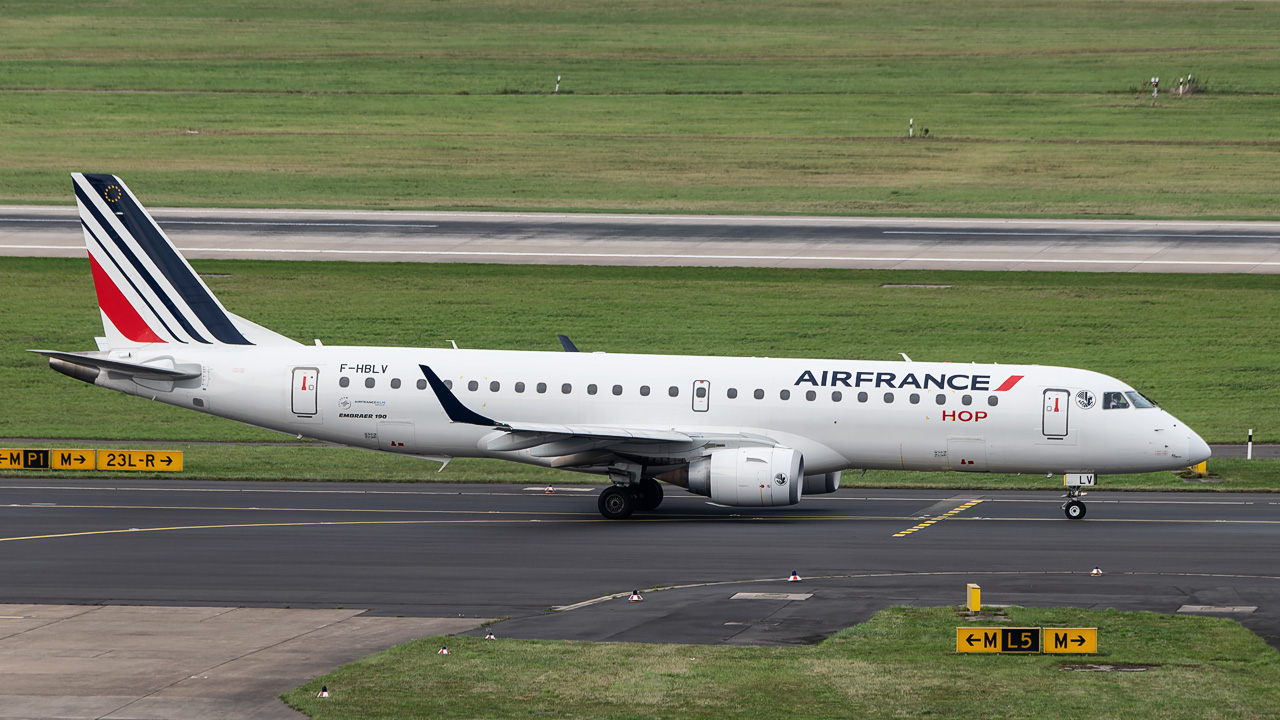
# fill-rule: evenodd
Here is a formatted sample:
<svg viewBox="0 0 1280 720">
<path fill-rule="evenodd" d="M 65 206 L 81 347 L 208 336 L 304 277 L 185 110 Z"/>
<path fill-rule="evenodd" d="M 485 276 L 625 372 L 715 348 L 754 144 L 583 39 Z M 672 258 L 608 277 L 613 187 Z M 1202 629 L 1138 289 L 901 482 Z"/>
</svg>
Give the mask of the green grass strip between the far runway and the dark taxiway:
<svg viewBox="0 0 1280 720">
<path fill-rule="evenodd" d="M 1119 377 L 1210 442 L 1280 441 L 1272 352 L 1280 293 L 1253 275 L 1119 275 L 692 268 L 211 261 L 197 269 L 232 310 L 307 342 L 1039 363 Z M 886 288 L 884 283 L 950 284 Z M 342 297 L 334 302 L 335 295 Z M 698 309 L 690 311 L 690 309 Z M 101 333 L 84 260 L 0 259 L 0 437 L 279 442 L 271 433 L 90 387 L 29 347 L 87 350 Z M 321 310 L 317 310 L 321 309 Z M 678 318 L 678 322 L 672 322 Z M 187 448 L 188 477 L 570 482 L 507 464 L 434 464 L 362 451 Z M 1215 461 L 1228 483 L 1274 484 L 1263 462 Z M 873 473 L 879 487 L 1042 487 L 1038 478 Z M 1107 487 L 1185 487 L 1172 475 Z"/>
</svg>

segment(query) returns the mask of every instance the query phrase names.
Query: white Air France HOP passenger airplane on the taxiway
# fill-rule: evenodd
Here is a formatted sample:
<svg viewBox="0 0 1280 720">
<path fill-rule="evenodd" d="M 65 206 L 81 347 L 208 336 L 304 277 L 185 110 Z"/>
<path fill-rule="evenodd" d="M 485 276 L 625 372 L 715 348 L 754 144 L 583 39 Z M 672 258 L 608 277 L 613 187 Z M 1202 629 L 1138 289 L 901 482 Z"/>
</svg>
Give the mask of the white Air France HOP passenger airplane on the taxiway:
<svg viewBox="0 0 1280 720">
<path fill-rule="evenodd" d="M 608 519 L 660 483 L 787 506 L 851 469 L 1064 477 L 1068 519 L 1102 474 L 1210 457 L 1124 382 L 1041 365 L 314 346 L 229 313 L 118 177 L 73 173 L 104 337 L 32 350 L 99 387 L 300 437 L 607 477 Z M 443 469 L 443 465 L 442 465 Z"/>
</svg>

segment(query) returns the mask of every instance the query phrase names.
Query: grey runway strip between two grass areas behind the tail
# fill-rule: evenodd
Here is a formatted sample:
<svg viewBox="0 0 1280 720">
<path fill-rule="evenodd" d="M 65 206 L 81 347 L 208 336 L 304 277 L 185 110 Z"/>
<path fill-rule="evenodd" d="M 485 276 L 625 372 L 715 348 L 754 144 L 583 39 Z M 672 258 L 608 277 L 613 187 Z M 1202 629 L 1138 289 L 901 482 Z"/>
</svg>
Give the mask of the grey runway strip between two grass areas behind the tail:
<svg viewBox="0 0 1280 720">
<path fill-rule="evenodd" d="M 1280 223 L 152 209 L 188 258 L 1280 273 Z M 76 208 L 0 206 L 0 255 L 83 256 Z"/>
</svg>

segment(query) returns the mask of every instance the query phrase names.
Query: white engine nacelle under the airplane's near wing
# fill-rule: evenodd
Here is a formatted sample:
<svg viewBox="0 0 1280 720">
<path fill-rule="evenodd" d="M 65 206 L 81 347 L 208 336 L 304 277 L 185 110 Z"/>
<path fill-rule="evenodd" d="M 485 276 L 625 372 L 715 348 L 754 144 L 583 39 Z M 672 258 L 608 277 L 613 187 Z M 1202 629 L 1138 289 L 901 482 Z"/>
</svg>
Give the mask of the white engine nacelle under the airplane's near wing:
<svg viewBox="0 0 1280 720">
<path fill-rule="evenodd" d="M 790 447 L 716 450 L 689 464 L 689 492 L 722 505 L 795 505 L 804 489 L 804 457 Z"/>
</svg>

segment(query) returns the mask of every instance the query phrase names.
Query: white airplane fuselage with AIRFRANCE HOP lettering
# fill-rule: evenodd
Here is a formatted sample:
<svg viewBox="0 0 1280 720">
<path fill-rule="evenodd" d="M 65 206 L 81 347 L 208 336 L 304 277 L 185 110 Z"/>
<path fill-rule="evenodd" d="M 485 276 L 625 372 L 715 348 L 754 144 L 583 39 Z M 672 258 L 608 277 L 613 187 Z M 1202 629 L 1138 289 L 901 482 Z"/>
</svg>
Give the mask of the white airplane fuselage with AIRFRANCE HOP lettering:
<svg viewBox="0 0 1280 720">
<path fill-rule="evenodd" d="M 529 451 L 488 448 L 500 434 L 493 427 L 451 421 L 420 365 L 465 406 L 500 421 L 767 438 L 800 451 L 806 474 L 1116 474 L 1185 468 L 1208 455 L 1160 407 L 1103 409 L 1105 393 L 1133 388 L 1071 368 L 321 346 L 150 346 L 128 360 L 198 364 L 202 377 L 134 382 L 102 373 L 97 384 L 285 433 L 430 457 L 552 465 Z"/>
</svg>

